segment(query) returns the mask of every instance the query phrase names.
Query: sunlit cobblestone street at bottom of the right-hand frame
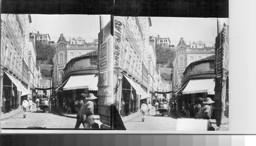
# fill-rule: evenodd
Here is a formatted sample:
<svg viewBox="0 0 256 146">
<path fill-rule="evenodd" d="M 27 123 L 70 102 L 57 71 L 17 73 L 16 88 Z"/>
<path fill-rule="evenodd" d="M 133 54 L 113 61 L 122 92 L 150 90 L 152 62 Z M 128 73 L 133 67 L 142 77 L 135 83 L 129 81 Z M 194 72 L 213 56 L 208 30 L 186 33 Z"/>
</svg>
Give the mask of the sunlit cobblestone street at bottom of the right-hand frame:
<svg viewBox="0 0 256 146">
<path fill-rule="evenodd" d="M 158 112 L 159 113 L 159 112 Z M 141 115 L 124 123 L 126 130 L 154 130 L 154 131 L 173 131 L 176 130 L 177 125 L 177 115 L 170 112 L 168 116 L 161 116 L 158 114 L 156 116 L 155 108 L 152 109 L 152 116 L 148 115 L 146 112 L 145 121 L 141 121 Z"/>
</svg>

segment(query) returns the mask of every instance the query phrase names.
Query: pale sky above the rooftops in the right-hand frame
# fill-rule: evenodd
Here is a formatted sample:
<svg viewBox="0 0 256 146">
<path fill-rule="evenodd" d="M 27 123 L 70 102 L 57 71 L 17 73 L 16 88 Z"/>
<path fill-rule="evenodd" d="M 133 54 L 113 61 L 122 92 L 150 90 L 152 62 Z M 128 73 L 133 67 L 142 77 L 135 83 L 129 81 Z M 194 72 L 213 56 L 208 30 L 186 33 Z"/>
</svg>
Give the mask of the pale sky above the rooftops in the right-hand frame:
<svg viewBox="0 0 256 146">
<path fill-rule="evenodd" d="M 202 41 L 215 43 L 217 37 L 217 18 L 181 18 L 151 17 L 151 32 L 161 38 L 170 38 L 170 43 L 177 46 L 180 38 L 186 44 Z"/>
</svg>

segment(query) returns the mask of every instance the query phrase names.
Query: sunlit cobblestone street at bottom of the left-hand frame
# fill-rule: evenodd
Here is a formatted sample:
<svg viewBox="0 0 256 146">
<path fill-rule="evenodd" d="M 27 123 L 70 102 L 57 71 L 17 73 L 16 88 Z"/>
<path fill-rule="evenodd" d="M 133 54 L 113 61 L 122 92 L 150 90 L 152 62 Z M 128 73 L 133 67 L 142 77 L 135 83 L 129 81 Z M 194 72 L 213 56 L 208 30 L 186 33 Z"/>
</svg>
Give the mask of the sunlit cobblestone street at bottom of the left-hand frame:
<svg viewBox="0 0 256 146">
<path fill-rule="evenodd" d="M 59 112 L 52 108 L 51 113 L 36 112 L 35 105 L 32 112 L 27 112 L 27 117 L 23 118 L 23 112 L 20 112 L 10 119 L 1 121 L 2 128 L 27 128 L 27 127 L 45 127 L 45 128 L 74 128 L 76 119 L 61 116 Z M 83 128 L 80 125 L 80 128 Z"/>
</svg>

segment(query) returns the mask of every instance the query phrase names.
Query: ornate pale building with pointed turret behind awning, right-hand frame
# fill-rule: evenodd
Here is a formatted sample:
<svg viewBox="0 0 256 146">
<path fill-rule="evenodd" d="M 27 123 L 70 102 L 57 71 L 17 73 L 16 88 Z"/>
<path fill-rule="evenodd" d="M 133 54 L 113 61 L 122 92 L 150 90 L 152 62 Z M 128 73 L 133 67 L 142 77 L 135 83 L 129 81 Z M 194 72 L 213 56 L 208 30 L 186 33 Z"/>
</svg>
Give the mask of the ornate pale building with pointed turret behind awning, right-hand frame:
<svg viewBox="0 0 256 146">
<path fill-rule="evenodd" d="M 174 60 L 172 87 L 176 91 L 181 86 L 183 79 L 183 72 L 186 67 L 195 61 L 204 59 L 207 56 L 215 54 L 215 47 L 206 47 L 206 45 L 199 41 L 187 45 L 183 38 L 180 39 L 179 44 L 175 48 L 176 57 Z"/>
</svg>

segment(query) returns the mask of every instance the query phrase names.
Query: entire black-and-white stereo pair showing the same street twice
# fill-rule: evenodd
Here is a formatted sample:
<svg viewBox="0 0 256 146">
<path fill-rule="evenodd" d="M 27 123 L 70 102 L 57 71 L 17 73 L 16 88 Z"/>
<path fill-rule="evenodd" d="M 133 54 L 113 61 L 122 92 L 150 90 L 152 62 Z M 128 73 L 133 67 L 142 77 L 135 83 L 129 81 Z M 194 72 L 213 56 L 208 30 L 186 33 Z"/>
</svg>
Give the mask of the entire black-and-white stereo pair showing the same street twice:
<svg viewBox="0 0 256 146">
<path fill-rule="evenodd" d="M 1 128 L 228 130 L 228 27 L 228 18 L 2 14 Z"/>
</svg>

